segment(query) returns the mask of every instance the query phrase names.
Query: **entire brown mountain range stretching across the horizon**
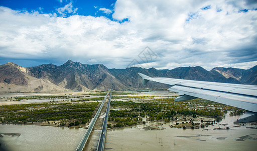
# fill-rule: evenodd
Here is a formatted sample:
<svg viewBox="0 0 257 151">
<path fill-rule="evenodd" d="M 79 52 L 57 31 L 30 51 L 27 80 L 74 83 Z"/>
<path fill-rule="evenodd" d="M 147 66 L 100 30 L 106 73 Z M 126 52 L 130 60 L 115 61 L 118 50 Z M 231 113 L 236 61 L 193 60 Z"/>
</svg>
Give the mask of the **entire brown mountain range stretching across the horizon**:
<svg viewBox="0 0 257 151">
<path fill-rule="evenodd" d="M 142 84 L 138 72 L 150 77 L 166 77 L 209 82 L 257 85 L 257 65 L 250 69 L 201 66 L 156 69 L 129 67 L 108 69 L 103 64 L 82 64 L 68 60 L 62 65 L 42 64 L 22 67 L 13 62 L 0 65 L 0 92 L 63 92 L 88 90 L 167 89 L 168 85 Z"/>
</svg>

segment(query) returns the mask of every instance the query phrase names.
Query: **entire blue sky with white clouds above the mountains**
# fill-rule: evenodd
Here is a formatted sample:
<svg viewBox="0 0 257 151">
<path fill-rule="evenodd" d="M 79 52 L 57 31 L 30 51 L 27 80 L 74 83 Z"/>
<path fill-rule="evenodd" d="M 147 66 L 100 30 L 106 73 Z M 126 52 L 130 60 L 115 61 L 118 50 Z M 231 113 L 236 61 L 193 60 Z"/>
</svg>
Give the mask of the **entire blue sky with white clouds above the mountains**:
<svg viewBox="0 0 257 151">
<path fill-rule="evenodd" d="M 254 0 L 0 1 L 0 64 L 247 69 L 256 16 Z"/>
</svg>

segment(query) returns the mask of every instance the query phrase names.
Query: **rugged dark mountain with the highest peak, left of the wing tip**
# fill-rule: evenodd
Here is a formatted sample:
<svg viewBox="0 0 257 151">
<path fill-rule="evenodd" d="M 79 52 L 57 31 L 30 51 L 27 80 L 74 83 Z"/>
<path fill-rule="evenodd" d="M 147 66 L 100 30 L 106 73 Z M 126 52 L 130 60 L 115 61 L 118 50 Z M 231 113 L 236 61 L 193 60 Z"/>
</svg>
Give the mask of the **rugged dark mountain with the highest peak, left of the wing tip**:
<svg viewBox="0 0 257 151">
<path fill-rule="evenodd" d="M 29 67 L 28 70 L 33 77 L 47 79 L 57 86 L 73 91 L 127 89 L 102 64 L 89 65 L 68 60 L 60 66 L 42 64 Z"/>
</svg>

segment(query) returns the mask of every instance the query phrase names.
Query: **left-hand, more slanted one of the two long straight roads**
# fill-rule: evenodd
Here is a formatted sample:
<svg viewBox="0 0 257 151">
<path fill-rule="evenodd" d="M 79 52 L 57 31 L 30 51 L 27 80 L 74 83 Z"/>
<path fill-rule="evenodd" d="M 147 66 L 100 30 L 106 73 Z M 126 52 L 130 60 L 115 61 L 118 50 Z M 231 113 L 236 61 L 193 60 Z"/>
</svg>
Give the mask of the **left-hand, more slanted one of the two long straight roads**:
<svg viewBox="0 0 257 151">
<path fill-rule="evenodd" d="M 98 118 L 98 115 L 99 115 L 99 113 L 100 113 L 100 111 L 101 111 L 101 109 L 102 109 L 103 104 L 105 103 L 105 100 L 106 100 L 106 98 L 107 98 L 109 92 L 110 92 L 110 91 L 108 91 L 108 93 L 106 94 L 104 100 L 102 101 L 101 106 L 99 107 L 98 111 L 96 112 L 96 114 L 95 114 L 93 120 L 90 122 L 90 125 L 89 125 L 89 127 L 88 127 L 86 133 L 84 134 L 83 138 L 81 139 L 81 141 L 80 141 L 80 143 L 79 143 L 79 145 L 78 145 L 78 147 L 77 147 L 77 149 L 76 149 L 77 151 L 82 151 L 82 150 L 83 150 L 83 148 L 84 148 L 84 146 L 85 146 L 85 144 L 86 144 L 86 141 L 87 141 L 87 139 L 88 139 L 88 137 L 89 137 L 89 135 L 90 135 L 90 133 L 91 133 L 93 127 L 94 127 L 95 121 L 96 121 L 97 118 Z"/>
</svg>

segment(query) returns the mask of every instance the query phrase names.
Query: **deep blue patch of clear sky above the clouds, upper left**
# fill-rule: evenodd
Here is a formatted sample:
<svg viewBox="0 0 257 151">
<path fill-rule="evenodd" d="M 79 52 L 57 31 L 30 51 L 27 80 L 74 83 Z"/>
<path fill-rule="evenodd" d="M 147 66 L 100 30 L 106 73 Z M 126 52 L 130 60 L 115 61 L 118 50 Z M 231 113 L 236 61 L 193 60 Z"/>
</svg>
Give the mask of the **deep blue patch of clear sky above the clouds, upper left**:
<svg viewBox="0 0 257 151">
<path fill-rule="evenodd" d="M 58 16 L 62 16 L 58 13 L 58 8 L 63 8 L 66 5 L 72 3 L 73 9 L 77 9 L 75 13 L 67 13 L 65 17 L 70 15 L 84 15 L 84 16 L 105 16 L 111 19 L 111 14 L 103 13 L 103 11 L 99 11 L 100 8 L 105 8 L 108 10 L 113 10 L 114 4 L 116 1 L 83 1 L 83 0 L 75 0 L 75 1 L 58 1 L 58 0 L 46 0 L 46 1 L 33 1 L 33 0 L 8 0 L 8 1 L 0 1 L 1 6 L 8 7 L 13 10 L 21 10 L 34 12 L 38 11 L 42 14 L 48 13 L 56 13 Z"/>
</svg>

